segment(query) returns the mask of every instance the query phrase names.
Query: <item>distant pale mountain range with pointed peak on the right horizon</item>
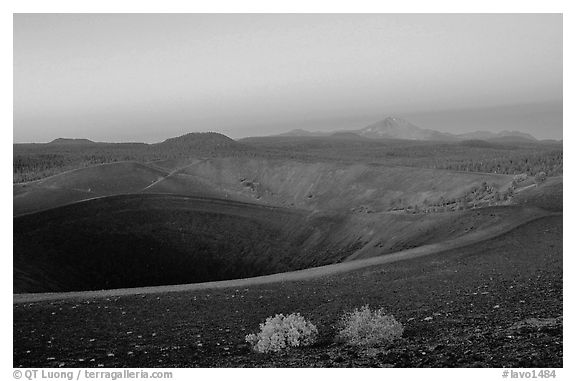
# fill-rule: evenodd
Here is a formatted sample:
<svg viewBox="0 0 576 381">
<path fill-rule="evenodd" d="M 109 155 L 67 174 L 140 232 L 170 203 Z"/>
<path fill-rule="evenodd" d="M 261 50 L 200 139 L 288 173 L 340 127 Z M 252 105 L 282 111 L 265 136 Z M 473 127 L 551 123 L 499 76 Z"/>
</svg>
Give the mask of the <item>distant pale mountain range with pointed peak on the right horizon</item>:
<svg viewBox="0 0 576 381">
<path fill-rule="evenodd" d="M 354 134 L 369 139 L 406 139 L 432 141 L 488 141 L 496 143 L 536 142 L 532 135 L 519 131 L 476 131 L 465 134 L 450 134 L 436 130 L 420 128 L 405 119 L 390 116 L 359 130 L 338 131 L 335 133 L 310 132 L 302 129 L 292 130 L 278 136 L 334 136 L 336 134 Z"/>
</svg>

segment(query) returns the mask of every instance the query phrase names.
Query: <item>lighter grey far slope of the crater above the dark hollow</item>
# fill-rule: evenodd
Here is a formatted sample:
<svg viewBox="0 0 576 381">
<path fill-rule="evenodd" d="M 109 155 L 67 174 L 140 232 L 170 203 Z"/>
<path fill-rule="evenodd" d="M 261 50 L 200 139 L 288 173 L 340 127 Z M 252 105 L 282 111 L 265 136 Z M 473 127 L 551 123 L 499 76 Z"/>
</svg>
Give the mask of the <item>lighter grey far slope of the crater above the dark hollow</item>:
<svg viewBox="0 0 576 381">
<path fill-rule="evenodd" d="M 14 215 L 116 194 L 221 197 L 306 210 L 371 212 L 434 204 L 483 183 L 504 192 L 511 176 L 287 159 L 216 157 L 111 163 L 15 184 Z"/>
</svg>

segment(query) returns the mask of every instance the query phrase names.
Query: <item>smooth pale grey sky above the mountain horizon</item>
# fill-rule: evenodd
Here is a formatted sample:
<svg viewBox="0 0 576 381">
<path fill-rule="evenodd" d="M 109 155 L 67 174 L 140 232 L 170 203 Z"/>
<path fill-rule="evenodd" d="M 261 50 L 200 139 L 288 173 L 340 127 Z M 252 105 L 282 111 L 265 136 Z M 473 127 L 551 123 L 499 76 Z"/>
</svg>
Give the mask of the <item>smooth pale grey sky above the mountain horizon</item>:
<svg viewBox="0 0 576 381">
<path fill-rule="evenodd" d="M 361 128 L 562 138 L 562 16 L 19 14 L 14 141 Z"/>
</svg>

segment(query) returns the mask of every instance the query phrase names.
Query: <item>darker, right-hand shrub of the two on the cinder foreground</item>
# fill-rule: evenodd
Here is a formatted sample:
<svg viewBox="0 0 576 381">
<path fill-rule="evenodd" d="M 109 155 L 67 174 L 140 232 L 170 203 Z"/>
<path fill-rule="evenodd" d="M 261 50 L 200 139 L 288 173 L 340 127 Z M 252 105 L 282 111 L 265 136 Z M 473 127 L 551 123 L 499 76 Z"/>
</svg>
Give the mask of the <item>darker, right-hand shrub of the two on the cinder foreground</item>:
<svg viewBox="0 0 576 381">
<path fill-rule="evenodd" d="M 402 336 L 404 327 L 384 310 L 371 311 L 368 305 L 347 312 L 340 319 L 339 338 L 356 346 L 390 344 Z"/>
</svg>

